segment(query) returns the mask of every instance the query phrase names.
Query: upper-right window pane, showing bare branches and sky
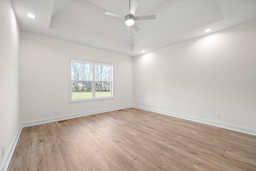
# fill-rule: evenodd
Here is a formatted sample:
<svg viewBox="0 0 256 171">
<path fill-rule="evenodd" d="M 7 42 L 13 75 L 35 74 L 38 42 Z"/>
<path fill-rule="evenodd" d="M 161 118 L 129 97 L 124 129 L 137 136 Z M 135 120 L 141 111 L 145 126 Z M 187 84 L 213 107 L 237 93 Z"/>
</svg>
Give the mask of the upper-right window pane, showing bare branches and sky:
<svg viewBox="0 0 256 171">
<path fill-rule="evenodd" d="M 110 81 L 111 80 L 111 66 L 95 65 L 95 80 L 96 81 Z"/>
</svg>

